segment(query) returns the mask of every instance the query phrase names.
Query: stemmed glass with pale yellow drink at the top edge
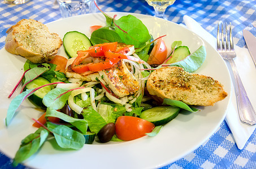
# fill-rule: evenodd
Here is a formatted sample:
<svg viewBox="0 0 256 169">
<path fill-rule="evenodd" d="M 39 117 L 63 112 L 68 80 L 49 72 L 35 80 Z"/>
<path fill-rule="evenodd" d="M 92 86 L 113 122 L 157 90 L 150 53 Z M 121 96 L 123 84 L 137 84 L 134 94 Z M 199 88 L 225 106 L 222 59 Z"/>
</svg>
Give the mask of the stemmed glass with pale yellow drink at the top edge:
<svg viewBox="0 0 256 169">
<path fill-rule="evenodd" d="M 172 5 L 175 0 L 146 0 L 146 2 L 154 7 L 156 17 L 160 17 L 167 20 L 167 17 L 164 15 L 166 8 Z"/>
</svg>

